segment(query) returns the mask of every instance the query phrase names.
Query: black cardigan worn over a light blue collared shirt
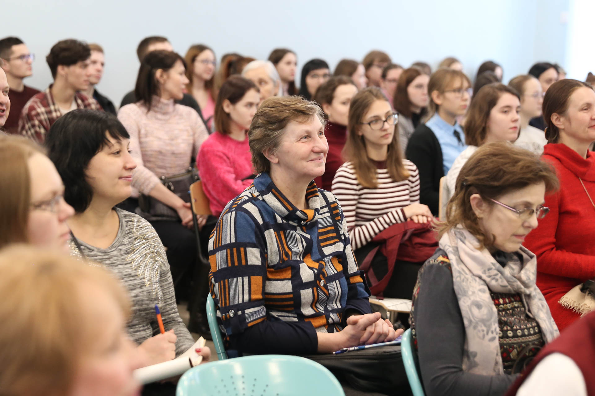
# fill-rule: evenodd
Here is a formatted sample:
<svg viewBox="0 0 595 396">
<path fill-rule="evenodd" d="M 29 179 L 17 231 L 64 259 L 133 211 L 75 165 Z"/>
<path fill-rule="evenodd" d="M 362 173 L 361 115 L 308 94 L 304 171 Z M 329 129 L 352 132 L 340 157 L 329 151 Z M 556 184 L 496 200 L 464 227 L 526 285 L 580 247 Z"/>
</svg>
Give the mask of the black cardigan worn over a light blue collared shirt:
<svg viewBox="0 0 595 396">
<path fill-rule="evenodd" d="M 415 128 L 405 156 L 419 171 L 419 202 L 428 205 L 434 216 L 438 216 L 440 178 L 444 176 L 442 149 L 434 132 L 425 124 Z"/>
</svg>

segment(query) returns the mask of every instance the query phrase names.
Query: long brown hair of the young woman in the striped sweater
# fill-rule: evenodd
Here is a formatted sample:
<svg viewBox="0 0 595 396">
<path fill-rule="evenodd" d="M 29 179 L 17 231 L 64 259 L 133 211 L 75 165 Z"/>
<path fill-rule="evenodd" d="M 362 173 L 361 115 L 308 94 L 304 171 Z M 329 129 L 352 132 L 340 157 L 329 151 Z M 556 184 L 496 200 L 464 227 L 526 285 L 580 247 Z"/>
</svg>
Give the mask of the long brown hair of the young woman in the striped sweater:
<svg viewBox="0 0 595 396">
<path fill-rule="evenodd" d="M 351 161 L 358 182 L 365 188 L 376 188 L 378 180 L 376 179 L 376 167 L 368 157 L 364 137 L 359 136 L 358 132 L 362 128 L 362 121 L 369 108 L 377 100 L 386 100 L 386 96 L 378 87 L 368 87 L 359 91 L 351 100 L 349 105 L 349 125 L 347 125 L 347 142 L 343 148 L 343 157 Z M 403 154 L 399 144 L 399 134 L 394 125 L 393 140 L 389 144 L 386 166 L 389 175 L 398 181 L 409 177 L 409 172 L 403 165 Z"/>
</svg>

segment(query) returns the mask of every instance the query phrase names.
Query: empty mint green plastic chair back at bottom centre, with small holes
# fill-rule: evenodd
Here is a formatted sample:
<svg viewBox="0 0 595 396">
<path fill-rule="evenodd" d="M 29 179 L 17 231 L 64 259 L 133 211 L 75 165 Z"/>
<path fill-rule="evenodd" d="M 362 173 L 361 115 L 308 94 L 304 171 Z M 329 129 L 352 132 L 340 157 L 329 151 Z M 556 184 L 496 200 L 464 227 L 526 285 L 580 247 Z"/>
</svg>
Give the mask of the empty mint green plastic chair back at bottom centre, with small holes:
<svg viewBox="0 0 595 396">
<path fill-rule="evenodd" d="M 345 396 L 324 366 L 304 357 L 256 355 L 206 363 L 181 376 L 176 396 Z"/>
</svg>

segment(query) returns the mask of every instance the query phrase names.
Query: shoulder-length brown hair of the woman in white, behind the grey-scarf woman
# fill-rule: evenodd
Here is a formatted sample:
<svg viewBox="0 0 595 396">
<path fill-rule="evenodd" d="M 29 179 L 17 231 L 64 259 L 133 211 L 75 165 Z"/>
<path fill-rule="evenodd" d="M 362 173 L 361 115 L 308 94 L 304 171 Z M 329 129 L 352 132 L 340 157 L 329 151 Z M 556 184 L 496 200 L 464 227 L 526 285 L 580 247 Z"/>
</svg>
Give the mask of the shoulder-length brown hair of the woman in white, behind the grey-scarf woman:
<svg viewBox="0 0 595 396">
<path fill-rule="evenodd" d="M 496 106 L 500 97 L 506 93 L 516 96 L 518 100 L 521 100 L 521 97 L 519 97 L 518 92 L 514 88 L 501 83 L 484 85 L 473 96 L 465 119 L 466 145 L 479 147 L 486 141 L 487 121 L 490 118 L 491 109 Z"/>
</svg>

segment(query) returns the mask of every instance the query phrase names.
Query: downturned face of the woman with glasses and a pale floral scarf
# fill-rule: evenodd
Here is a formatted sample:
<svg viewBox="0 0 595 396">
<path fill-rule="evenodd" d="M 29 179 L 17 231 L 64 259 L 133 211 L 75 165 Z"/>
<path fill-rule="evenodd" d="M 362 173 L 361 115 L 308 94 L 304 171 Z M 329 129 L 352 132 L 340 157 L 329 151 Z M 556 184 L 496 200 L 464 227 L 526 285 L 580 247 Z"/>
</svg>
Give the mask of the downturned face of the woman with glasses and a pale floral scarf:
<svg viewBox="0 0 595 396">
<path fill-rule="evenodd" d="M 517 210 L 537 208 L 543 205 L 546 186 L 543 182 L 509 192 L 496 198 Z M 521 220 L 515 212 L 491 201 L 484 201 L 479 194 L 471 195 L 471 207 L 478 218 L 478 224 L 484 235 L 494 235 L 490 251 L 516 252 L 531 230 L 537 228 L 537 216 Z"/>
</svg>

